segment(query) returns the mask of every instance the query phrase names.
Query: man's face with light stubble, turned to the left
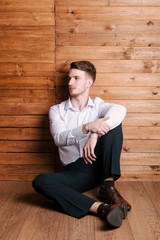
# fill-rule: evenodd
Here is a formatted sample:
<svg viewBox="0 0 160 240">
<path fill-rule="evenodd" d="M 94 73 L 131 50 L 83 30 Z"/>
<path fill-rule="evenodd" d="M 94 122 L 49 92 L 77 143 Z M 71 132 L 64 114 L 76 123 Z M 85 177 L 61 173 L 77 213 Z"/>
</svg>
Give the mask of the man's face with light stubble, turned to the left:
<svg viewBox="0 0 160 240">
<path fill-rule="evenodd" d="M 83 95 L 92 85 L 92 79 L 87 73 L 78 69 L 71 69 L 68 73 L 68 87 L 70 96 Z"/>
</svg>

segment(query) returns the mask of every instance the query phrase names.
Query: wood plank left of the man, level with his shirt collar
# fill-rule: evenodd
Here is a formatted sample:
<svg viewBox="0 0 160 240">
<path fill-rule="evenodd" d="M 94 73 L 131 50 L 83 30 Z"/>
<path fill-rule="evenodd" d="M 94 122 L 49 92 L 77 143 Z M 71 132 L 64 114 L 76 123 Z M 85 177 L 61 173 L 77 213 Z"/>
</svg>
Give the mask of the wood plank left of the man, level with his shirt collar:
<svg viewBox="0 0 160 240">
<path fill-rule="evenodd" d="M 0 103 L 0 114 L 2 115 L 36 115 L 48 114 L 49 108 L 55 102 L 47 103 Z"/>
</svg>

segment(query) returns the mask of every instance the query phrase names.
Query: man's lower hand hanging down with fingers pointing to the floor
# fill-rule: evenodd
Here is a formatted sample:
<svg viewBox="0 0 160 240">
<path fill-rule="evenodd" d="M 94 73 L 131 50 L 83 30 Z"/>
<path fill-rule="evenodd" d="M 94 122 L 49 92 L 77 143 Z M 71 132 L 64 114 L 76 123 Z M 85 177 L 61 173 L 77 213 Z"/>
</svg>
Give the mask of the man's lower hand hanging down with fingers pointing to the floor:
<svg viewBox="0 0 160 240">
<path fill-rule="evenodd" d="M 96 161 L 94 149 L 97 144 L 97 140 L 98 135 L 96 133 L 92 133 L 83 148 L 83 159 L 86 164 L 92 164 L 92 161 Z"/>
</svg>

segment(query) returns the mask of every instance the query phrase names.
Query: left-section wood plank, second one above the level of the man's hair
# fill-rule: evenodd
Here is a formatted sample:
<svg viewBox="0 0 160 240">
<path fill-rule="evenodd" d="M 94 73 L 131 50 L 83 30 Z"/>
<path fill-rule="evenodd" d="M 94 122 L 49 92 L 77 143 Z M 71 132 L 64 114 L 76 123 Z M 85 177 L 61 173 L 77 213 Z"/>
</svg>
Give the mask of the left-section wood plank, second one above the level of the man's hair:
<svg viewBox="0 0 160 240">
<path fill-rule="evenodd" d="M 54 43 L 54 36 L 50 38 L 42 38 L 39 37 L 28 37 L 28 38 L 8 38 L 3 37 L 0 38 L 0 51 L 9 51 L 9 52 L 26 52 L 28 50 L 29 52 L 32 52 L 33 54 L 35 52 L 41 51 L 44 53 L 45 51 L 51 51 L 53 52 L 53 49 L 55 47 Z M 32 57 L 32 56 L 31 56 Z"/>
</svg>

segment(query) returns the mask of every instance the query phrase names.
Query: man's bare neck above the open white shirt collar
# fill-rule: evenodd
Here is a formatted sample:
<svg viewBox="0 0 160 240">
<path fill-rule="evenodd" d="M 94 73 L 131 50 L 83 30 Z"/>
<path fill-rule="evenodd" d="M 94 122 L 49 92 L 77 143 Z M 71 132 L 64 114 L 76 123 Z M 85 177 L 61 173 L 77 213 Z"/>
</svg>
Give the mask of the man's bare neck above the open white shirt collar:
<svg viewBox="0 0 160 240">
<path fill-rule="evenodd" d="M 86 96 L 77 96 L 77 97 L 70 97 L 71 99 L 71 103 L 72 103 L 72 106 L 79 110 L 79 111 L 82 111 L 83 108 L 87 105 L 88 103 L 88 99 L 89 99 L 89 95 L 86 95 Z"/>
</svg>

